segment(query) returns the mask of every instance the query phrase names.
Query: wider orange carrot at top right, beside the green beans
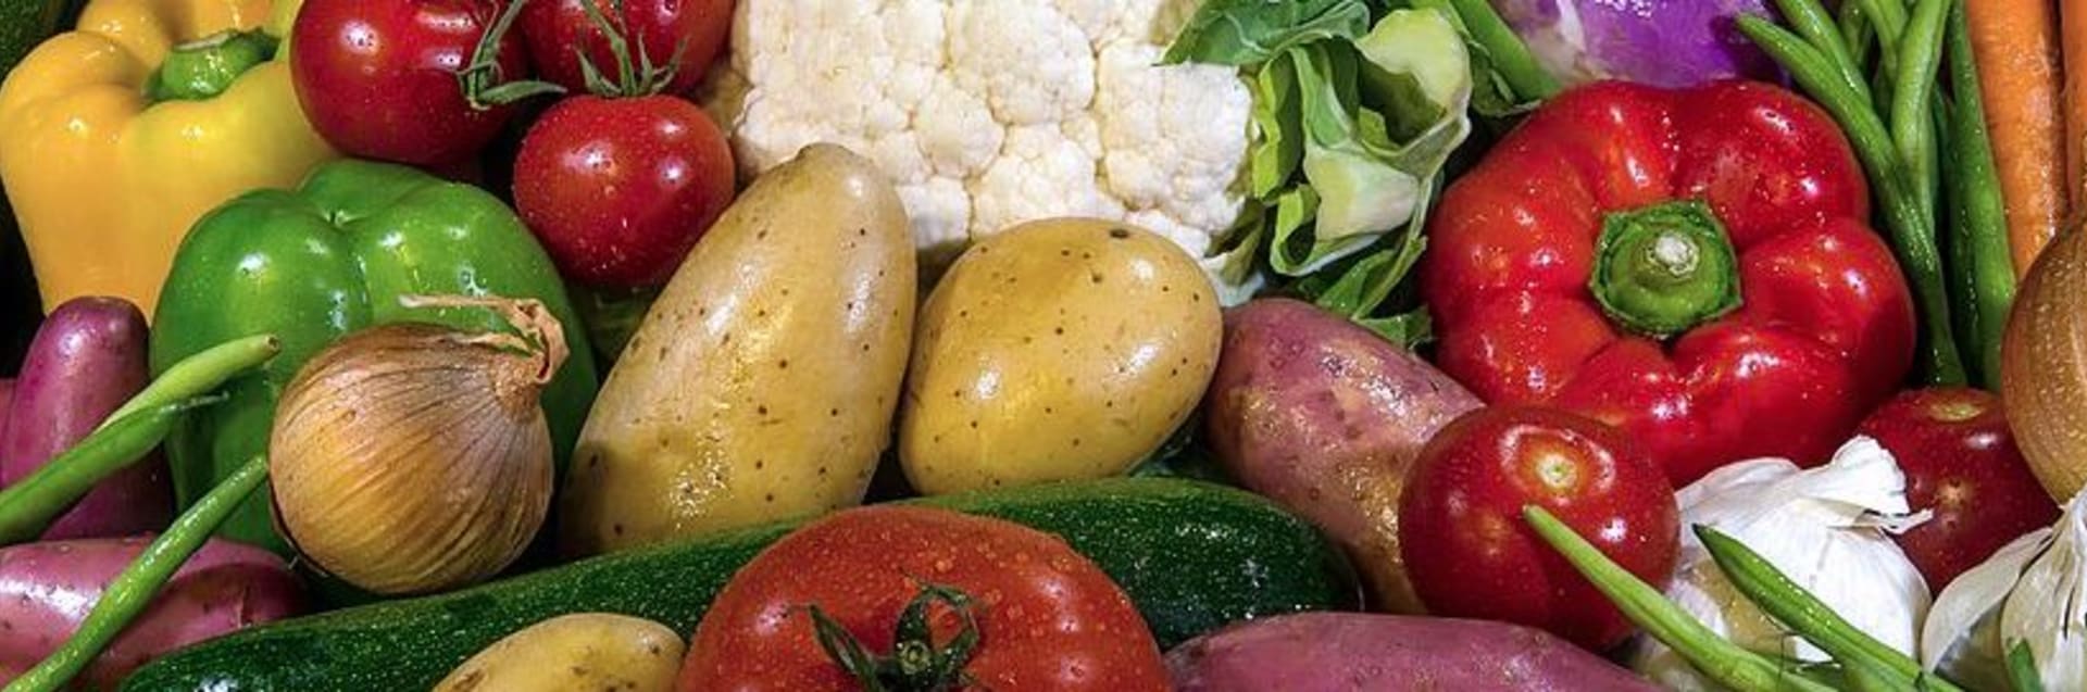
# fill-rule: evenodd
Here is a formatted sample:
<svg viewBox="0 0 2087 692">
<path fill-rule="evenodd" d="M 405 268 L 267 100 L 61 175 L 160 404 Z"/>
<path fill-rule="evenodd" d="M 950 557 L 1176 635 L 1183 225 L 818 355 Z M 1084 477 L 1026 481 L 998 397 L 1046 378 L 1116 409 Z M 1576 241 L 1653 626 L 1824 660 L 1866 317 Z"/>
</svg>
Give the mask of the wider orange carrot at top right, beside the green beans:
<svg viewBox="0 0 2087 692">
<path fill-rule="evenodd" d="M 2060 2 L 2064 40 L 2052 0 L 1964 2 L 2016 275 L 2029 273 L 2066 215 L 2087 202 L 2079 188 L 2087 160 L 2087 0 Z"/>
</svg>

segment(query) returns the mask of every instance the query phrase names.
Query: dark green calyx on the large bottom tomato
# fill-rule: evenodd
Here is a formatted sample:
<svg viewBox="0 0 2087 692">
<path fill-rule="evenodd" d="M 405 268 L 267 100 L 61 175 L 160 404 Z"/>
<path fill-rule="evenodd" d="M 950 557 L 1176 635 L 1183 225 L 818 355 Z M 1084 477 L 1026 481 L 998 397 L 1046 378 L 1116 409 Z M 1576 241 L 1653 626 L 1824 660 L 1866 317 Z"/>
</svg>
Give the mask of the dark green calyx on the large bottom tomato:
<svg viewBox="0 0 2087 692">
<path fill-rule="evenodd" d="M 929 609 L 937 602 L 950 607 L 962 621 L 956 636 L 939 646 L 929 627 Z M 973 684 L 964 665 L 979 650 L 981 636 L 970 594 L 962 590 L 920 582 L 920 594 L 914 594 L 906 602 L 906 611 L 899 613 L 889 657 L 872 654 L 862 646 L 862 640 L 833 621 L 818 604 L 810 604 L 806 611 L 812 615 L 818 646 L 849 677 L 856 677 L 864 692 L 945 692 Z"/>
</svg>

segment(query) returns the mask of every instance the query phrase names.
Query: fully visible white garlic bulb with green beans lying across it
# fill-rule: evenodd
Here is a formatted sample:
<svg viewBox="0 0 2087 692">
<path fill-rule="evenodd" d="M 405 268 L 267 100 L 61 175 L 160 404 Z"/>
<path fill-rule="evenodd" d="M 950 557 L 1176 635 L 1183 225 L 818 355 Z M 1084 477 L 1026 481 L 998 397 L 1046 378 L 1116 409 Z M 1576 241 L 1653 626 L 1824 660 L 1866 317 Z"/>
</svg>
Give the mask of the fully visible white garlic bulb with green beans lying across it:
<svg viewBox="0 0 2087 692">
<path fill-rule="evenodd" d="M 1738 538 L 1855 627 L 1914 652 L 1928 586 L 1889 534 L 1918 525 L 1924 515 L 1910 515 L 1905 475 L 1876 440 L 1855 438 L 1832 463 L 1809 471 L 1784 459 L 1734 463 L 1682 488 L 1676 500 L 1684 527 L 1711 525 Z M 1668 598 L 1749 650 L 1826 661 L 1747 602 L 1690 529 L 1682 529 Z M 1632 669 L 1670 690 L 1716 688 L 1651 640 L 1636 648 Z"/>
</svg>

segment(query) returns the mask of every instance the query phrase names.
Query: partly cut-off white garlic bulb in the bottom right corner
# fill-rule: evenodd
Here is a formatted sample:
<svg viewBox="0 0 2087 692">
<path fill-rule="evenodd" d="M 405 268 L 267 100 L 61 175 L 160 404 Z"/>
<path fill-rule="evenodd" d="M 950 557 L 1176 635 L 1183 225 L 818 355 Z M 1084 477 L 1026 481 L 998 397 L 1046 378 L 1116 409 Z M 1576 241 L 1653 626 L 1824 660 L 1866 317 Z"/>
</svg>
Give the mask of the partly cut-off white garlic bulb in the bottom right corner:
<svg viewBox="0 0 2087 692">
<path fill-rule="evenodd" d="M 2045 690 L 2087 690 L 2087 492 L 2058 525 L 2016 538 L 1935 598 L 1920 663 L 2006 690 L 2006 654 L 2029 642 Z"/>
</svg>

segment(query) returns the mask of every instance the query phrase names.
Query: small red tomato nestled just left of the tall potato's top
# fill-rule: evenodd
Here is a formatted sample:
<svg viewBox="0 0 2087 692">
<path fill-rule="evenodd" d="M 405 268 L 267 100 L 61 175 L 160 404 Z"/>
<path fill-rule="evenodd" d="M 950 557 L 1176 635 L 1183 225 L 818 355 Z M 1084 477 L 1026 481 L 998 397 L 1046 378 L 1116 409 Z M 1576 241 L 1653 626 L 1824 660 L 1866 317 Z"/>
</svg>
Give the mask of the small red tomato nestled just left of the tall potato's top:
<svg viewBox="0 0 2087 692">
<path fill-rule="evenodd" d="M 733 204 L 733 150 L 703 108 L 674 96 L 574 96 L 515 156 L 515 211 L 568 279 L 666 283 Z"/>
</svg>

